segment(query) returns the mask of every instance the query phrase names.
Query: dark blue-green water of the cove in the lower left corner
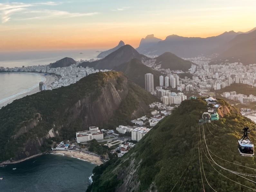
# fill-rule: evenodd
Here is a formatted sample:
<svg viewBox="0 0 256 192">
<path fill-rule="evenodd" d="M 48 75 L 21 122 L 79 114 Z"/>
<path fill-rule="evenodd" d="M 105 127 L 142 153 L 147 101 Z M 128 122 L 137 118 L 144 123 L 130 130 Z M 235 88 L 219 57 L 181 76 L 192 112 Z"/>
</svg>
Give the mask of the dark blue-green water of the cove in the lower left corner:
<svg viewBox="0 0 256 192">
<path fill-rule="evenodd" d="M 17 164 L 0 167 L 1 192 L 86 191 L 95 167 L 88 161 L 46 154 Z M 16 168 L 13 170 L 13 168 Z"/>
</svg>

